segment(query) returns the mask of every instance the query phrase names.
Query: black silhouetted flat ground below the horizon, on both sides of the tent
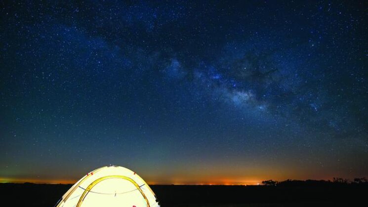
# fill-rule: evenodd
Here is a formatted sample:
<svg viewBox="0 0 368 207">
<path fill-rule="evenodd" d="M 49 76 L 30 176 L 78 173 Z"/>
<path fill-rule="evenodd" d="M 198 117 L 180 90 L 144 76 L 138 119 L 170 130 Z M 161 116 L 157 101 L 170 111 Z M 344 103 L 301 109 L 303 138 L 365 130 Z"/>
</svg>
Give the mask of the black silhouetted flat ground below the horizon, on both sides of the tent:
<svg viewBox="0 0 368 207">
<path fill-rule="evenodd" d="M 10 206 L 53 207 L 71 187 L 62 184 L 0 184 Z M 365 206 L 367 184 L 301 183 L 283 186 L 152 185 L 162 207 Z"/>
</svg>

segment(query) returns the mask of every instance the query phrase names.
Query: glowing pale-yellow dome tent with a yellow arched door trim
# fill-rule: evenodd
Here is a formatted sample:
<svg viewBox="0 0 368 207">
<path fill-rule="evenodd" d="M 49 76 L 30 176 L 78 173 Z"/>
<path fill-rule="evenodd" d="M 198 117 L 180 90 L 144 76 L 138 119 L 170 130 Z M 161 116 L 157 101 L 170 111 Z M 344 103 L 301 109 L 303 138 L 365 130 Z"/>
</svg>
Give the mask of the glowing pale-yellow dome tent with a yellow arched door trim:
<svg viewBox="0 0 368 207">
<path fill-rule="evenodd" d="M 104 166 L 74 184 L 56 207 L 160 207 L 155 193 L 135 172 Z"/>
</svg>

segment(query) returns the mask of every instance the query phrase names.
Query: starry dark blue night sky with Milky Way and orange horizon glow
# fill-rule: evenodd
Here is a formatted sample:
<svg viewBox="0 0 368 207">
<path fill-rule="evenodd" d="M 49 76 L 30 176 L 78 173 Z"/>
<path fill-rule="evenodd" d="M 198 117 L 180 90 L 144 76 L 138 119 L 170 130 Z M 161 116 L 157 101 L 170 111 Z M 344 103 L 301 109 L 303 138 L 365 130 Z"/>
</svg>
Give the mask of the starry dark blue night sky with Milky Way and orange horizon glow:
<svg viewBox="0 0 368 207">
<path fill-rule="evenodd" d="M 0 181 L 368 176 L 367 1 L 7 1 Z"/>
</svg>

